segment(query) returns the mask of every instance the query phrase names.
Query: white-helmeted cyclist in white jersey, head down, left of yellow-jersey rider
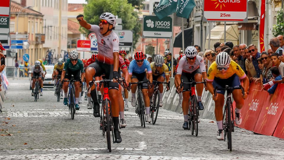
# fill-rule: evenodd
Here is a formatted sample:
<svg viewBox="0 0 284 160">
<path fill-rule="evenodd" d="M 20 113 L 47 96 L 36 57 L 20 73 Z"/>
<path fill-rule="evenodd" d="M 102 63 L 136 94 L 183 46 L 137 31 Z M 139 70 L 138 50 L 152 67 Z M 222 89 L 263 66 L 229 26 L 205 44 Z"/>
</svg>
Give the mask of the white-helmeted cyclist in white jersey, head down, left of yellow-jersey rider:
<svg viewBox="0 0 284 160">
<path fill-rule="evenodd" d="M 185 56 L 179 60 L 179 66 L 177 68 L 177 75 L 175 81 L 177 84 L 177 90 L 182 91 L 182 111 L 184 116 L 184 123 L 182 128 L 189 129 L 188 125 L 188 109 L 189 109 L 189 98 L 190 98 L 190 85 L 184 84 L 182 88 L 180 87 L 181 80 L 185 83 L 195 80 L 195 82 L 202 82 L 202 79 L 206 79 L 206 68 L 203 62 L 203 58 L 197 55 L 197 50 L 193 46 L 188 46 L 184 51 Z M 203 110 L 203 104 L 201 103 L 202 91 L 204 85 L 202 83 L 196 84 L 197 90 L 197 105 L 198 110 Z"/>
</svg>

